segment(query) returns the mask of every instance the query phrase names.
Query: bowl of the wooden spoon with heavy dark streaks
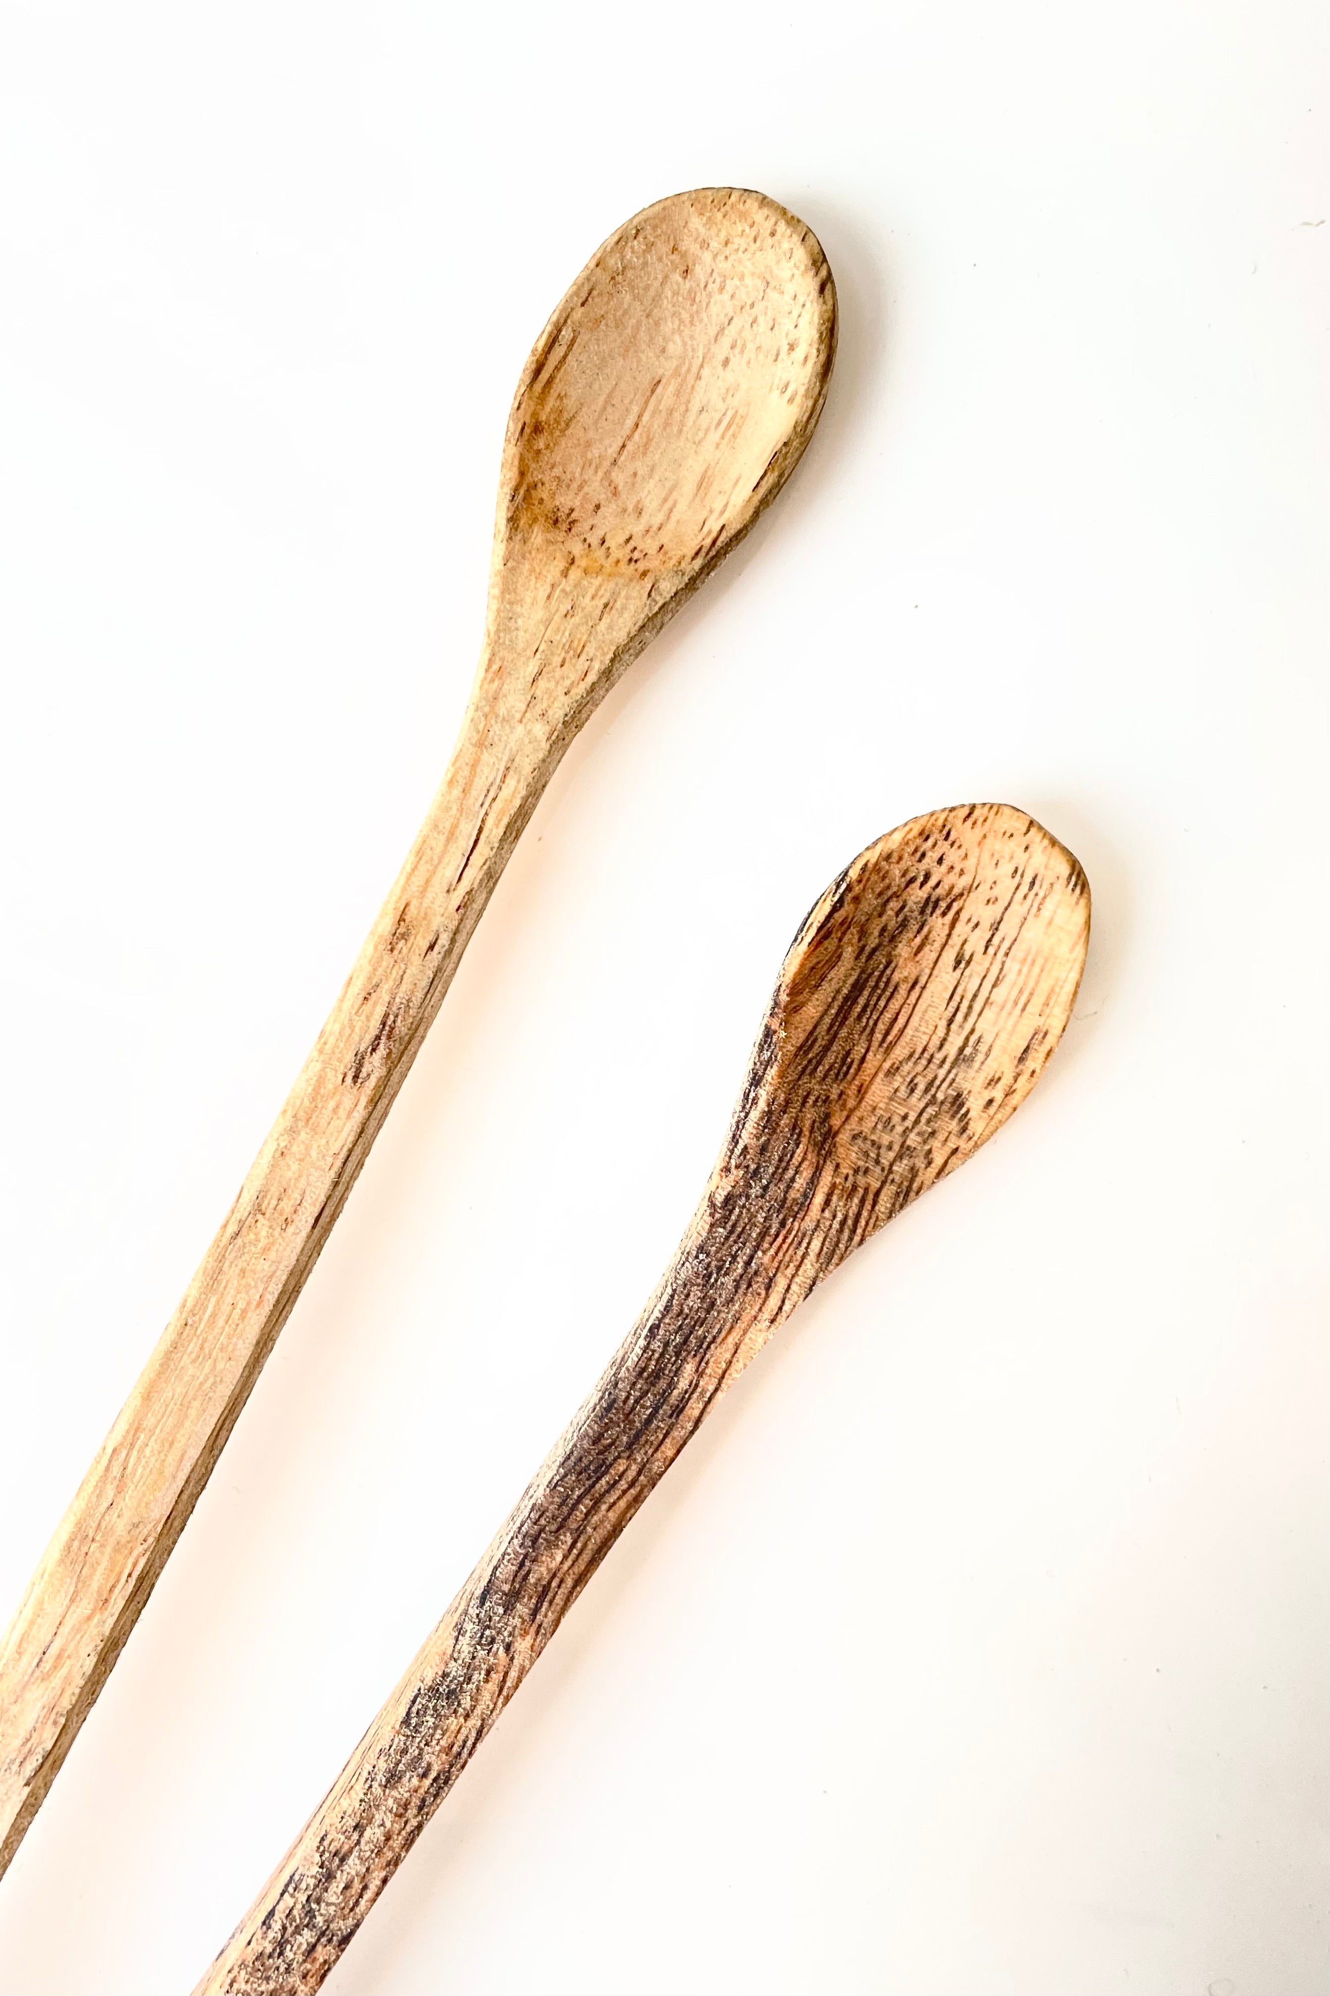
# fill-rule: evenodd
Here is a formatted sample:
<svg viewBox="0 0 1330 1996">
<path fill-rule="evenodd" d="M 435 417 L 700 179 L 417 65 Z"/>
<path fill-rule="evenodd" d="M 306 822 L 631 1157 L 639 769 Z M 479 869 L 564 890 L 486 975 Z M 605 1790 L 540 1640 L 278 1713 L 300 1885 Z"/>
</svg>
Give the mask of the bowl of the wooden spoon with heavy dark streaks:
<svg viewBox="0 0 1330 1996">
<path fill-rule="evenodd" d="M 1081 864 L 1011 804 L 911 818 L 822 894 L 726 1166 L 790 1160 L 784 1212 L 820 1275 L 1027 1098 L 1071 1018 L 1089 924 Z"/>
</svg>

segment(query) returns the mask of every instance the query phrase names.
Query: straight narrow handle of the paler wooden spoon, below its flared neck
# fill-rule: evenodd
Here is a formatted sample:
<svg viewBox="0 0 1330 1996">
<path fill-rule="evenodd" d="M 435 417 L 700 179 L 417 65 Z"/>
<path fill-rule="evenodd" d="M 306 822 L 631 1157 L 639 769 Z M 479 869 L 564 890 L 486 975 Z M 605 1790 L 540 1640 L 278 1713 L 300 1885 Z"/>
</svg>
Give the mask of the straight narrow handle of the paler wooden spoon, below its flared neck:
<svg viewBox="0 0 1330 1996">
<path fill-rule="evenodd" d="M 508 731 L 473 709 L 351 978 L 0 1645 L 0 1872 L 134 1629 L 544 788 L 548 766 L 526 745 L 500 752 L 504 741 Z"/>
</svg>

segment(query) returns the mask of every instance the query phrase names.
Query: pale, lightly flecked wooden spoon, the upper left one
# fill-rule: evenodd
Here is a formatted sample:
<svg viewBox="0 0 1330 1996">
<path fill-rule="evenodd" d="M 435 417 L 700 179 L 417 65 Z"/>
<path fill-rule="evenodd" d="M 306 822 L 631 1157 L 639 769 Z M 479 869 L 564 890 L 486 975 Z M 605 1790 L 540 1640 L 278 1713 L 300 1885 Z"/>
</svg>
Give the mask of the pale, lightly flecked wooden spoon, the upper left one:
<svg viewBox="0 0 1330 1996">
<path fill-rule="evenodd" d="M 313 1054 L 0 1649 L 0 1872 L 183 1529 L 586 717 L 804 453 L 835 349 L 814 236 L 708 188 L 604 244 L 504 441 L 485 651 L 459 747 Z"/>
</svg>

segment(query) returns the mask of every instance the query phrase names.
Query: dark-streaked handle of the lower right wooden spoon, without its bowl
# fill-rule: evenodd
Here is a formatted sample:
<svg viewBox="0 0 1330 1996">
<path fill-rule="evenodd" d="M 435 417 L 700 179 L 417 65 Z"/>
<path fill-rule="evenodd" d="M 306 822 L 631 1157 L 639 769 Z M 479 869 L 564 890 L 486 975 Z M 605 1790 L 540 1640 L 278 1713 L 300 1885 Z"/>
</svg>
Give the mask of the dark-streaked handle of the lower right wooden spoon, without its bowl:
<svg viewBox="0 0 1330 1996">
<path fill-rule="evenodd" d="M 317 1990 L 582 1587 L 812 1285 L 752 1283 L 742 1202 L 704 1202 L 594 1393 L 489 1545 L 195 1996 Z"/>
</svg>

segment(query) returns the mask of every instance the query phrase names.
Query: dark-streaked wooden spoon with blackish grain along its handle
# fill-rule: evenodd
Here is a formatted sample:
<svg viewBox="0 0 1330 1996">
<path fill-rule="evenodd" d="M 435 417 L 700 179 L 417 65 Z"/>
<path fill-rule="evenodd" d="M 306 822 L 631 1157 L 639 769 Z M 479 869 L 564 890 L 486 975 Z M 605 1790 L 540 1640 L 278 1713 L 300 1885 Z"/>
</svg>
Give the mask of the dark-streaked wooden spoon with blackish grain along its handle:
<svg viewBox="0 0 1330 1996">
<path fill-rule="evenodd" d="M 1089 918 L 1077 860 L 1005 804 L 913 818 L 831 882 L 644 1317 L 195 1996 L 321 1986 L 720 1393 L 1031 1092 L 1071 1016 Z"/>
</svg>

